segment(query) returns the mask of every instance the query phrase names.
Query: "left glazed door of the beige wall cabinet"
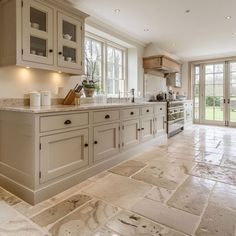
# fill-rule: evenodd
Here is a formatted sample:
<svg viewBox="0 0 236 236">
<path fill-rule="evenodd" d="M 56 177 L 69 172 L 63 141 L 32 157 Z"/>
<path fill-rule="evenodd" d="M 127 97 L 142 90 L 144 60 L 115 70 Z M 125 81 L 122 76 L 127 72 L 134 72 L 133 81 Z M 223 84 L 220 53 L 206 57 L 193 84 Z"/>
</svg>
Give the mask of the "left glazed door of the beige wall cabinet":
<svg viewBox="0 0 236 236">
<path fill-rule="evenodd" d="M 23 60 L 53 64 L 53 10 L 34 0 L 23 2 Z"/>
</svg>

